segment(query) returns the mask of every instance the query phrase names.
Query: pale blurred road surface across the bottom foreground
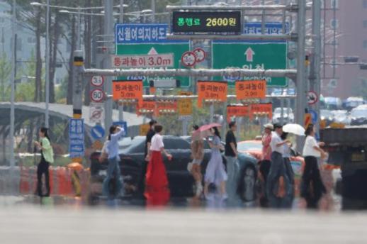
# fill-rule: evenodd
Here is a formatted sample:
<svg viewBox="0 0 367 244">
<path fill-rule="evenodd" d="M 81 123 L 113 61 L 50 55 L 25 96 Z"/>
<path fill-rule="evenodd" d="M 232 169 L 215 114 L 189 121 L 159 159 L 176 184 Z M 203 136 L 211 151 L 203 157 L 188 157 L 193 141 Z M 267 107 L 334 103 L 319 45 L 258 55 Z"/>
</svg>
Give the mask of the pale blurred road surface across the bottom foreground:
<svg viewBox="0 0 367 244">
<path fill-rule="evenodd" d="M 0 243 L 367 243 L 367 213 L 3 207 Z"/>
</svg>

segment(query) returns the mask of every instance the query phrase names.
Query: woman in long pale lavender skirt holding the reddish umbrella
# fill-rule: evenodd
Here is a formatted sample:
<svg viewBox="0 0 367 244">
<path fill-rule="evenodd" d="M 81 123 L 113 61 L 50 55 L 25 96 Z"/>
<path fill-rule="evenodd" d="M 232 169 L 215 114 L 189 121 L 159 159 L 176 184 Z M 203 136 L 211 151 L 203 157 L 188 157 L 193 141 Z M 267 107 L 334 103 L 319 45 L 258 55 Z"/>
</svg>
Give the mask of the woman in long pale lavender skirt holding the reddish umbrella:
<svg viewBox="0 0 367 244">
<path fill-rule="evenodd" d="M 225 172 L 225 165 L 223 165 L 222 155 L 220 154 L 220 150 L 224 150 L 224 147 L 220 142 L 218 127 L 210 128 L 209 131 L 213 136 L 213 140 L 207 138 L 212 152 L 205 172 L 204 194 L 205 196 L 208 196 L 209 185 L 215 184 L 216 187 L 220 187 L 220 194 L 226 198 L 227 193 L 225 191 L 225 182 L 227 182 L 228 177 Z"/>
</svg>

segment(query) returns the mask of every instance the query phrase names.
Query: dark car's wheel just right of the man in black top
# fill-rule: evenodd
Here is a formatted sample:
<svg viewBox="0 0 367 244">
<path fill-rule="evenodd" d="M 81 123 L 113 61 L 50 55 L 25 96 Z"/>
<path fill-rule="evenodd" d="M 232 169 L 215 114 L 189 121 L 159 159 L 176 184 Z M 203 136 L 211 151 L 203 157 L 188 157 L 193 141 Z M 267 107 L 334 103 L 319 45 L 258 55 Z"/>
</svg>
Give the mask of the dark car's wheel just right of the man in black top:
<svg viewBox="0 0 367 244">
<path fill-rule="evenodd" d="M 256 195 L 256 170 L 254 167 L 245 167 L 241 177 L 241 191 L 239 192 L 244 201 L 254 201 Z"/>
</svg>

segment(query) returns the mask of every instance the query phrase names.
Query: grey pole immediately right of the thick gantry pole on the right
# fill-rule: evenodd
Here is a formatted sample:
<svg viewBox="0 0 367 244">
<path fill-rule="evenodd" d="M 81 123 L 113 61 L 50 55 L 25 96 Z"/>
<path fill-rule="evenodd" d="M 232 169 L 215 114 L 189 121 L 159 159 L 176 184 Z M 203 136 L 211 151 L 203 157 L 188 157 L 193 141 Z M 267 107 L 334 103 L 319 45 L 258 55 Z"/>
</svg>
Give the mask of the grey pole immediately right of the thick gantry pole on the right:
<svg viewBox="0 0 367 244">
<path fill-rule="evenodd" d="M 312 2 L 312 39 L 313 53 L 310 67 L 310 87 L 320 97 L 320 64 L 321 64 L 321 0 Z M 315 111 L 320 116 L 320 101 L 315 104 Z M 320 130 L 320 120 L 317 119 L 317 131 Z"/>
</svg>

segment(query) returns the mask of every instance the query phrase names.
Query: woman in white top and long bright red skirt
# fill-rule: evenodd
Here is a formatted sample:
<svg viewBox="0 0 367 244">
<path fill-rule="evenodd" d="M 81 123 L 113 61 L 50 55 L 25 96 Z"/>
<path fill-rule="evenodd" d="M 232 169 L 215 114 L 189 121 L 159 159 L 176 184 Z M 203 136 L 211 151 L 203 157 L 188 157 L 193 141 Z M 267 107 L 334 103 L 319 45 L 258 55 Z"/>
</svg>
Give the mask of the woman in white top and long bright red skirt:
<svg viewBox="0 0 367 244">
<path fill-rule="evenodd" d="M 169 160 L 172 159 L 172 155 L 164 150 L 163 137 L 161 135 L 162 129 L 163 127 L 161 125 L 154 126 L 155 135 L 152 138 L 150 150 L 147 155 L 149 163 L 146 174 L 147 190 L 145 192 L 145 196 L 149 199 L 149 196 L 152 196 L 154 193 L 166 192 L 166 194 L 164 194 L 164 199 L 168 201 L 169 186 L 162 153 L 164 153 Z M 160 198 L 162 198 L 162 196 L 160 196 Z"/>
</svg>

